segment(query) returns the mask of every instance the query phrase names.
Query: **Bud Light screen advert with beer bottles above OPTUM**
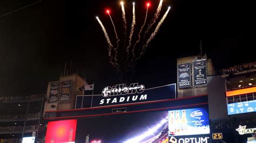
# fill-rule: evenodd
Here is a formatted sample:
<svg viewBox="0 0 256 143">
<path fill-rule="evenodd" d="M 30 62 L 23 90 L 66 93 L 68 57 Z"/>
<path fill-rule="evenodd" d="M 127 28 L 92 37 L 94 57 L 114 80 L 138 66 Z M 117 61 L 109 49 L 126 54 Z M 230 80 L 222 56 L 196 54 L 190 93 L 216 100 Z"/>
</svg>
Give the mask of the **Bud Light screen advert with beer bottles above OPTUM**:
<svg viewBox="0 0 256 143">
<path fill-rule="evenodd" d="M 209 134 L 207 108 L 168 111 L 169 136 Z"/>
</svg>

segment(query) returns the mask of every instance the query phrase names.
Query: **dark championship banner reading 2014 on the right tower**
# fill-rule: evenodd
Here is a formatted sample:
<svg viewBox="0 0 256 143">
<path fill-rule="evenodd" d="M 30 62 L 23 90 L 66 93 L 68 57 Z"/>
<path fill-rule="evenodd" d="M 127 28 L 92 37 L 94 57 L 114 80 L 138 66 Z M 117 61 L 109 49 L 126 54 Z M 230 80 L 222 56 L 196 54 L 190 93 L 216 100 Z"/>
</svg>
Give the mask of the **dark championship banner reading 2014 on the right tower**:
<svg viewBox="0 0 256 143">
<path fill-rule="evenodd" d="M 194 86 L 207 85 L 206 60 L 193 61 Z"/>
</svg>

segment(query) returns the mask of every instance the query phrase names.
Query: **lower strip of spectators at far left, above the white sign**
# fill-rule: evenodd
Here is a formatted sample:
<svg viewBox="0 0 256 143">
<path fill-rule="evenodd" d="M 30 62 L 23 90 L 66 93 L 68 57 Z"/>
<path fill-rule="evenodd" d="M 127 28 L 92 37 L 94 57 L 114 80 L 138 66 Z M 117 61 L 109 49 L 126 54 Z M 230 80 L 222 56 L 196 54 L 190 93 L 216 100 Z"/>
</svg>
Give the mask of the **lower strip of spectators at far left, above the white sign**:
<svg viewBox="0 0 256 143">
<path fill-rule="evenodd" d="M 0 132 L 21 132 L 23 130 L 23 126 L 4 126 L 0 127 Z M 25 126 L 25 131 L 33 131 L 37 130 L 37 125 Z"/>
</svg>

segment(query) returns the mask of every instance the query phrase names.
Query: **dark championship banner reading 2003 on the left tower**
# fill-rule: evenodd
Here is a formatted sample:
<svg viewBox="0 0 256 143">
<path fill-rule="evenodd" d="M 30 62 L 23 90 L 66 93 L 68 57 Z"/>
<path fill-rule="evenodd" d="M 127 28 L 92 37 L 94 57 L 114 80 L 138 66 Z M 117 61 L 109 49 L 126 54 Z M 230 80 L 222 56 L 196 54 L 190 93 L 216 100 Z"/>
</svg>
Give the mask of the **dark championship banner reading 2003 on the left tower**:
<svg viewBox="0 0 256 143">
<path fill-rule="evenodd" d="M 69 101 L 70 91 L 71 91 L 71 89 L 70 89 L 71 83 L 72 83 L 72 81 L 62 82 L 62 91 L 61 91 L 60 98 L 59 98 L 60 102 Z"/>
</svg>

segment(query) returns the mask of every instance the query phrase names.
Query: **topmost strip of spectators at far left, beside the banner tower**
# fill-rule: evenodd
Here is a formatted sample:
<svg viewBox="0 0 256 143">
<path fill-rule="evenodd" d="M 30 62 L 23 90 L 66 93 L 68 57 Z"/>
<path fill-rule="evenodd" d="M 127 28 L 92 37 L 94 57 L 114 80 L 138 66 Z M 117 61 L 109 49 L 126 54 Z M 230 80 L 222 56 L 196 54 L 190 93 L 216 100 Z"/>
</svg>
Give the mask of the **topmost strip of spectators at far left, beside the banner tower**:
<svg viewBox="0 0 256 143">
<path fill-rule="evenodd" d="M 0 96 L 0 101 L 19 101 L 28 99 L 42 98 L 43 95 L 28 95 L 28 96 Z"/>
</svg>

